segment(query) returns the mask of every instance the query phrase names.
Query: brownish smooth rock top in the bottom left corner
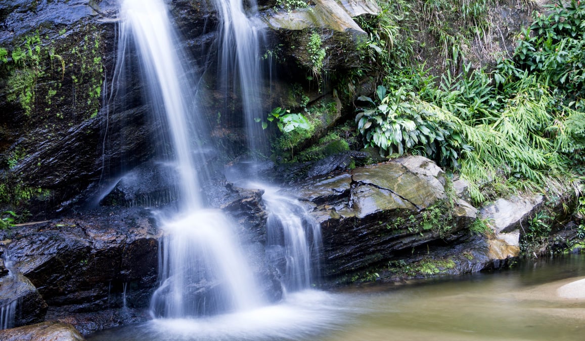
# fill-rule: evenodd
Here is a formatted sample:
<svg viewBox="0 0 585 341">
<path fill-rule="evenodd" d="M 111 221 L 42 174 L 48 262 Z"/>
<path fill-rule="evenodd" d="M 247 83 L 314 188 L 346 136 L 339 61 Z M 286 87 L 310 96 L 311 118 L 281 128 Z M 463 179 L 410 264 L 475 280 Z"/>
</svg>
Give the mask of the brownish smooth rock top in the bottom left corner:
<svg viewBox="0 0 585 341">
<path fill-rule="evenodd" d="M 43 322 L 36 325 L 0 330 L 4 341 L 82 341 L 84 337 L 68 323 Z"/>
</svg>

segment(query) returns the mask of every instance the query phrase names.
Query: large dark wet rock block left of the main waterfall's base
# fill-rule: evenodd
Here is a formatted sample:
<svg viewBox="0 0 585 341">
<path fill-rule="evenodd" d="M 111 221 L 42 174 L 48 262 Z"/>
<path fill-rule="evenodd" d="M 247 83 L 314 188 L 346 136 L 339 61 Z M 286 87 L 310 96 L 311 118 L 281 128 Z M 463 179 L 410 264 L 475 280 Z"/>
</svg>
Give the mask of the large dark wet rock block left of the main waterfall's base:
<svg viewBox="0 0 585 341">
<path fill-rule="evenodd" d="M 149 305 L 156 287 L 159 232 L 144 209 L 102 209 L 13 233 L 20 273 L 51 309 L 70 314 Z"/>
</svg>

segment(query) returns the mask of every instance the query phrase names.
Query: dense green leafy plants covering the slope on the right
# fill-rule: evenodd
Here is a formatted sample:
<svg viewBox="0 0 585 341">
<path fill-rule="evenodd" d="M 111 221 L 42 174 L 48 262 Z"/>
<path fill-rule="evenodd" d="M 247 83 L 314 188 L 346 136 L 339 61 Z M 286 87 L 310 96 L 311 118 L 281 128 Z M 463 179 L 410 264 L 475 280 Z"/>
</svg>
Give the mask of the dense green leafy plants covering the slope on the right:
<svg viewBox="0 0 585 341">
<path fill-rule="evenodd" d="M 422 154 L 459 171 L 472 184 L 475 201 L 486 199 L 482 187 L 497 179 L 505 187 L 554 190 L 582 173 L 585 3 L 548 5 L 546 14 L 535 13 L 513 56 L 500 57 L 491 71 L 467 64 L 453 76 L 445 66 L 441 78 L 425 66 L 402 64 L 413 50 L 405 38 L 406 16 L 416 9 L 405 2 L 386 6 L 395 8 L 362 23 L 371 38 L 364 64 L 383 70 L 375 99 L 357 102 L 356 122 L 366 146 L 385 156 Z M 406 14 L 390 14 L 396 6 Z M 429 32 L 462 39 L 480 35 L 488 29 L 483 12 L 469 11 L 459 31 L 432 27 Z M 444 60 L 463 60 L 456 40 L 451 46 Z"/>
</svg>

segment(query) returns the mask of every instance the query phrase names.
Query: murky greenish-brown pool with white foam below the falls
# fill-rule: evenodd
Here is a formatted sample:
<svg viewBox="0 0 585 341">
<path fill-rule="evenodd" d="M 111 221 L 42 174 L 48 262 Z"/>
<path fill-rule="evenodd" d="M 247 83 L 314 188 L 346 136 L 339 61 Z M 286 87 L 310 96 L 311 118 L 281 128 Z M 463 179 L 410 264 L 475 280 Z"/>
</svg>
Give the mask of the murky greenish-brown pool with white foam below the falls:
<svg viewBox="0 0 585 341">
<path fill-rule="evenodd" d="M 579 340 L 585 300 L 556 290 L 585 278 L 585 255 L 407 285 L 302 291 L 277 305 L 157 319 L 88 340 Z"/>
</svg>

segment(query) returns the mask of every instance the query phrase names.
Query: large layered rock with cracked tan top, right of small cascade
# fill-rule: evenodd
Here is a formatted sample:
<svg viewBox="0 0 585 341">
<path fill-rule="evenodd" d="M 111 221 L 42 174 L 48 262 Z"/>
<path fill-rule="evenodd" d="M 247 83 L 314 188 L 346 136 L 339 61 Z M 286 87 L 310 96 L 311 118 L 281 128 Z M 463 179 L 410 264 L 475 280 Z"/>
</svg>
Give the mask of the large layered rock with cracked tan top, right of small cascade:
<svg viewBox="0 0 585 341">
<path fill-rule="evenodd" d="M 337 281 L 464 239 L 476 209 L 461 199 L 448 202 L 444 184 L 435 163 L 409 156 L 318 177 L 291 192 L 321 223 L 321 273 Z"/>
</svg>

